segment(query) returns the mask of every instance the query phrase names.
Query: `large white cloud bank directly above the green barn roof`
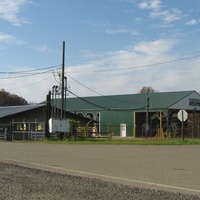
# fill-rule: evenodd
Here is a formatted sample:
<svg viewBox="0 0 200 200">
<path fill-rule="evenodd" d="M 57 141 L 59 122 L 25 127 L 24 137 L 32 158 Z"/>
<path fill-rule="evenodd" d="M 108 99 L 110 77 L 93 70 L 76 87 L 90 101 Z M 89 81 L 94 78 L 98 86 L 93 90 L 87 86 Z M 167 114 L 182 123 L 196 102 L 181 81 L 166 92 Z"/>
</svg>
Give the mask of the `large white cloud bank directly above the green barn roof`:
<svg viewBox="0 0 200 200">
<path fill-rule="evenodd" d="M 100 57 L 93 55 L 90 64 L 67 67 L 67 71 L 75 80 L 104 95 L 137 93 L 143 86 L 160 92 L 198 91 L 198 59 L 158 64 L 178 59 L 172 53 L 175 45 L 173 40 L 141 42 Z M 78 96 L 98 95 L 70 77 L 68 83 Z"/>
</svg>

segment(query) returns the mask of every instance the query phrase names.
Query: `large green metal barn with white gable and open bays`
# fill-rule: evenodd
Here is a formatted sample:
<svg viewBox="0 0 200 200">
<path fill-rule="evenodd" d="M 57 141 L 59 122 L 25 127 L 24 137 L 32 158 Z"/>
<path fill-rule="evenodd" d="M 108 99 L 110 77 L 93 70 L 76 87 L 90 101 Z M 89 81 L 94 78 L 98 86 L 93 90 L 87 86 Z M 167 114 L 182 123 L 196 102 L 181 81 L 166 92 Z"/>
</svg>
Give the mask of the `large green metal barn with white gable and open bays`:
<svg viewBox="0 0 200 200">
<path fill-rule="evenodd" d="M 188 137 L 199 137 L 200 95 L 196 91 L 67 98 L 68 111 L 97 121 L 96 131 L 122 137 L 180 134 L 179 110 L 186 110 Z"/>
</svg>

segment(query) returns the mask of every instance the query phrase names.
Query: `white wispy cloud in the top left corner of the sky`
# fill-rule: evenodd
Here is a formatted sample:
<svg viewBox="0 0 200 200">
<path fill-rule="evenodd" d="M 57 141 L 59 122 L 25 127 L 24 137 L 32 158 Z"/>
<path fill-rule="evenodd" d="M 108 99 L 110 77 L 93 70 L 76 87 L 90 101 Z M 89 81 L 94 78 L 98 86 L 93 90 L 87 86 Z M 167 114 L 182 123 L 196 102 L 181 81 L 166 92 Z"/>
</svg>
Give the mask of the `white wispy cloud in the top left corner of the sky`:
<svg viewBox="0 0 200 200">
<path fill-rule="evenodd" d="M 28 3 L 30 3 L 30 0 L 1 0 L 0 19 L 6 20 L 15 26 L 30 23 L 19 17 L 22 6 Z"/>
</svg>

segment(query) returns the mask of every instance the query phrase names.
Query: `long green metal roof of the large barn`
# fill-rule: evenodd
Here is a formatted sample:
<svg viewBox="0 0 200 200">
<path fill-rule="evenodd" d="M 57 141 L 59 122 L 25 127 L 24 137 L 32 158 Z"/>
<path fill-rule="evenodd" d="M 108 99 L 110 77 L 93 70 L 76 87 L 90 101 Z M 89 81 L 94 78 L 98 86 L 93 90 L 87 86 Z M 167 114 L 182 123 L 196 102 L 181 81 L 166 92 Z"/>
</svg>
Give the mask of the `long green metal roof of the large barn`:
<svg viewBox="0 0 200 200">
<path fill-rule="evenodd" d="M 69 111 L 105 109 L 141 110 L 146 108 L 147 98 L 149 97 L 151 108 L 167 109 L 194 92 L 195 91 L 178 91 L 80 98 L 75 97 L 66 99 L 66 108 Z"/>
</svg>

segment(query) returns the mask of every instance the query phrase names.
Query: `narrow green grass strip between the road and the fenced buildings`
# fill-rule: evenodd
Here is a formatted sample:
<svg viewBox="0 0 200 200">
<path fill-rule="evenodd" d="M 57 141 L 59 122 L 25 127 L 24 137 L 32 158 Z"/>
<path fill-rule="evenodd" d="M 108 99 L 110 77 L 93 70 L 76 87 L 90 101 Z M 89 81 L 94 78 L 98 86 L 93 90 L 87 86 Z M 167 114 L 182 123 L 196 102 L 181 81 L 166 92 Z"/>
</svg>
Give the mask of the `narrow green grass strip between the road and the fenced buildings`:
<svg viewBox="0 0 200 200">
<path fill-rule="evenodd" d="M 185 138 L 171 138 L 171 139 L 89 139 L 89 140 L 38 140 L 38 141 L 14 141 L 23 143 L 42 143 L 42 144 L 104 144 L 104 145 L 200 145 L 200 139 L 188 139 Z"/>
</svg>

